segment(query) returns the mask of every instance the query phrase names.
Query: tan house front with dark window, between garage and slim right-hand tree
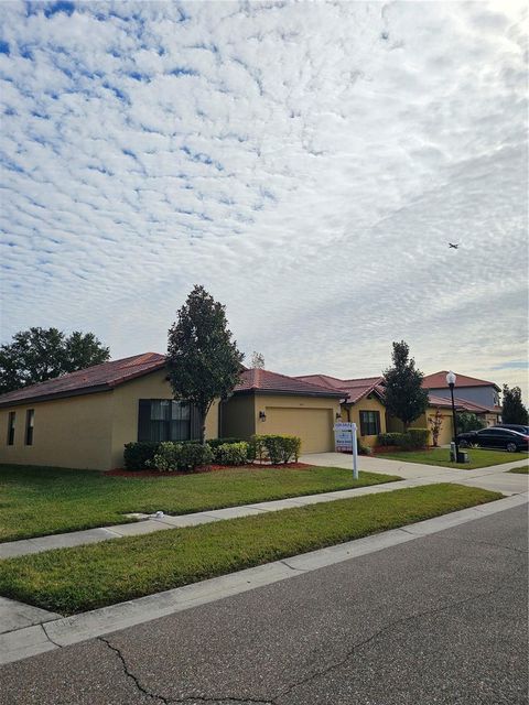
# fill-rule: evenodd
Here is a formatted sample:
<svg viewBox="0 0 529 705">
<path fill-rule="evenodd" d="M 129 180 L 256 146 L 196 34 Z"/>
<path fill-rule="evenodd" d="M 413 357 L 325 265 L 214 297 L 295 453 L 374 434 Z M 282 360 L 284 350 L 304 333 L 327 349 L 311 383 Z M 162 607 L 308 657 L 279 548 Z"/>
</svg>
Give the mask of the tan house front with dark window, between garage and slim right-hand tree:
<svg viewBox="0 0 529 705">
<path fill-rule="evenodd" d="M 382 377 L 338 379 L 328 375 L 305 375 L 296 379 L 341 391 L 342 421 L 356 423 L 365 445 L 377 445 L 379 433 L 386 433 Z"/>
</svg>

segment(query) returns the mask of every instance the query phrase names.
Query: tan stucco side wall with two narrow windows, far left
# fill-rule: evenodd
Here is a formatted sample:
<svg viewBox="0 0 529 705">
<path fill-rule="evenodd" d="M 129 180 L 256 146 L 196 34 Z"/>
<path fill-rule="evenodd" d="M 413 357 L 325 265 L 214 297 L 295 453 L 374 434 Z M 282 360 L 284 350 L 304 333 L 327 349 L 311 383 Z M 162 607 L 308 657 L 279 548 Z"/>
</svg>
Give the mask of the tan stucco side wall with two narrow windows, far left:
<svg viewBox="0 0 529 705">
<path fill-rule="evenodd" d="M 24 445 L 25 412 L 34 409 L 33 445 Z M 14 445 L 7 445 L 9 412 L 17 413 Z M 0 410 L 0 463 L 108 469 L 112 392 L 84 394 Z"/>
</svg>

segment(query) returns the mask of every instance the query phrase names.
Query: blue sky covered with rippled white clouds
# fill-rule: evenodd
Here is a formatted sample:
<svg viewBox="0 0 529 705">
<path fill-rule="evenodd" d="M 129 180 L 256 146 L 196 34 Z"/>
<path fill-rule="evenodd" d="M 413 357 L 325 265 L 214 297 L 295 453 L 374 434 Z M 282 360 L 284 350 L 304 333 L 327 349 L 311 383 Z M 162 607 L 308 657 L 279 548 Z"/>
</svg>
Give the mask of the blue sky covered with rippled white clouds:
<svg viewBox="0 0 529 705">
<path fill-rule="evenodd" d="M 1 2 L 1 341 L 164 351 L 202 283 L 269 369 L 527 393 L 523 7 Z"/>
</svg>

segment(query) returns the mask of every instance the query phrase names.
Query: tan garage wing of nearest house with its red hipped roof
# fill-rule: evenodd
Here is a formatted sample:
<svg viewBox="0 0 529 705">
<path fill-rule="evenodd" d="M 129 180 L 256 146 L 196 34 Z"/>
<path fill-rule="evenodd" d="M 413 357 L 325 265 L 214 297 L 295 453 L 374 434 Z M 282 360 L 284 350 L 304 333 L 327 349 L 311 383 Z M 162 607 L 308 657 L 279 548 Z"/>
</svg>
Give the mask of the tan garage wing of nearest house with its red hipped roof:
<svg viewBox="0 0 529 705">
<path fill-rule="evenodd" d="M 224 437 L 253 434 L 300 436 L 302 453 L 334 449 L 334 422 L 342 390 L 255 368 L 245 370 L 231 397 L 220 404 Z"/>
</svg>

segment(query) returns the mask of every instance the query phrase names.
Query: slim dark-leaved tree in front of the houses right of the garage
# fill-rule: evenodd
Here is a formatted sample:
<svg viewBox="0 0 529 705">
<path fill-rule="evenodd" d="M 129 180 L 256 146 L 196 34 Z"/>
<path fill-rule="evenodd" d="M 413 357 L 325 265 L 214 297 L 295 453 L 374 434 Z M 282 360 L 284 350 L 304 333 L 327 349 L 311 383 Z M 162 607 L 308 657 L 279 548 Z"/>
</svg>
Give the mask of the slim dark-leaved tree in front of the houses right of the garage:
<svg viewBox="0 0 529 705">
<path fill-rule="evenodd" d="M 388 413 L 400 419 L 407 431 L 427 410 L 428 390 L 422 389 L 424 375 L 415 369 L 414 359 L 410 359 L 407 343 L 393 343 L 391 358 L 393 366 L 384 372 L 385 404 Z"/>
</svg>

